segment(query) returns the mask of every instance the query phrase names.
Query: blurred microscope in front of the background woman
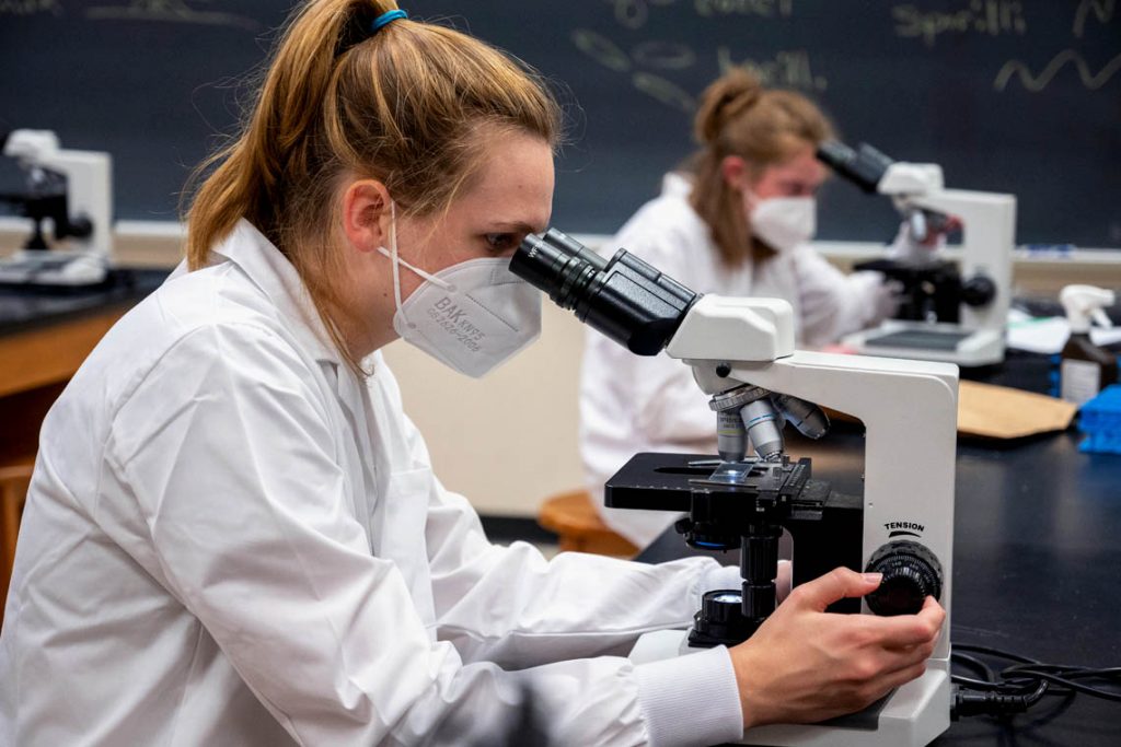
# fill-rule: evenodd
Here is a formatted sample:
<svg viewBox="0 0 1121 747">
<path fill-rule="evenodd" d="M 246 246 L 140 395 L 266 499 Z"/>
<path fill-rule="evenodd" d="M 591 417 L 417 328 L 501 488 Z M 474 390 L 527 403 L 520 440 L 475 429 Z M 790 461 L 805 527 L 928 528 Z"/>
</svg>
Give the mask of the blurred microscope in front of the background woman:
<svg viewBox="0 0 1121 747">
<path fill-rule="evenodd" d="M 855 265 L 902 287 L 897 318 L 845 337 L 858 353 L 981 366 L 1004 360 L 1016 197 L 943 187 L 942 167 L 893 161 L 871 146 L 830 141 L 817 158 L 869 194 L 891 197 L 907 225 L 900 255 Z M 962 231 L 961 270 L 927 244 Z"/>
</svg>

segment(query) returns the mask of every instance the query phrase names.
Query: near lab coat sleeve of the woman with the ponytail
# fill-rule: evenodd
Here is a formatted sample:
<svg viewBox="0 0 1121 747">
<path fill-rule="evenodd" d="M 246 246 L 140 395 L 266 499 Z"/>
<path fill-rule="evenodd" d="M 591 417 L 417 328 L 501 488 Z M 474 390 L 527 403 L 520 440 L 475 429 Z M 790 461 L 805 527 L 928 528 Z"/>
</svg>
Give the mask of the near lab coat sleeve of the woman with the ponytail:
<svg viewBox="0 0 1121 747">
<path fill-rule="evenodd" d="M 400 572 L 370 552 L 311 380 L 274 333 L 196 330 L 119 408 L 101 476 L 142 517 L 122 547 L 297 744 L 502 744 L 527 693 L 553 744 L 689 744 L 671 729 L 687 710 L 663 699 L 643 711 L 641 692 L 670 687 L 648 665 L 601 657 L 507 672 L 465 665 L 433 641 Z M 112 512 L 95 519 L 111 526 Z M 682 687 L 721 704 L 693 725 L 694 744 L 733 736 L 730 670 L 724 650 L 682 667 Z"/>
</svg>

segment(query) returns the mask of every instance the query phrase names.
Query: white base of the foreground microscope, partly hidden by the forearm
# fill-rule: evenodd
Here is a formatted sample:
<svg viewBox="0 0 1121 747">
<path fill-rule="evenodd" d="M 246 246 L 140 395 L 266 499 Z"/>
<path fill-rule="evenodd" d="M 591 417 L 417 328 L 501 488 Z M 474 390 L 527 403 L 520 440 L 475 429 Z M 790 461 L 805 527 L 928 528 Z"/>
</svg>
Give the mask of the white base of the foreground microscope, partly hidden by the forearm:
<svg viewBox="0 0 1121 747">
<path fill-rule="evenodd" d="M 688 631 L 657 631 L 639 637 L 636 664 L 695 653 Z M 823 723 L 772 723 L 743 734 L 741 745 L 771 747 L 925 747 L 949 728 L 948 662 L 929 660 L 923 676 L 852 716 Z"/>
</svg>

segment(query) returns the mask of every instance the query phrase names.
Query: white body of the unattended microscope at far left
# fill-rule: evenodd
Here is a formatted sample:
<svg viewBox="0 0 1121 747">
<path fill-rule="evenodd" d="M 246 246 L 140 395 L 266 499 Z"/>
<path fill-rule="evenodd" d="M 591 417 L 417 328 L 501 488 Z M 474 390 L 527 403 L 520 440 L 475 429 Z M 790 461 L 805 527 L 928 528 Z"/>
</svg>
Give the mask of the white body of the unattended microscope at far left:
<svg viewBox="0 0 1121 747">
<path fill-rule="evenodd" d="M 83 226 L 67 246 L 25 249 L 0 261 L 0 282 L 80 287 L 102 282 L 112 251 L 112 160 L 108 153 L 59 148 L 48 130 L 15 130 L 3 146 L 28 172 L 33 187 L 53 175 L 65 179 L 66 213 Z M 57 232 L 57 226 L 56 226 Z"/>
</svg>

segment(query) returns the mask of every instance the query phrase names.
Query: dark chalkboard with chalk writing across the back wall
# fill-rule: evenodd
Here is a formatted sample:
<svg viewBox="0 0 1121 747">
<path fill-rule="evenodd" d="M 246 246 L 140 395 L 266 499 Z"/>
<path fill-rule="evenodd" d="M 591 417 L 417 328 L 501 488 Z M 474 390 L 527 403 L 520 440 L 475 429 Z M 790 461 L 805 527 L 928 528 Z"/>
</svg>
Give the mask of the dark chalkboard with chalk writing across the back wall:
<svg viewBox="0 0 1121 747">
<path fill-rule="evenodd" d="M 1121 246 L 1119 0 L 414 0 L 537 67 L 569 137 L 554 222 L 611 233 L 693 149 L 696 96 L 732 64 L 809 94 L 842 137 L 1019 196 L 1021 243 Z M 117 216 L 174 220 L 231 130 L 277 0 L 0 0 L 0 127 L 114 157 Z M 13 167 L 3 166 L 6 184 Z M 0 185 L 3 186 L 3 185 Z M 882 198 L 834 181 L 819 236 L 884 241 Z"/>
</svg>

